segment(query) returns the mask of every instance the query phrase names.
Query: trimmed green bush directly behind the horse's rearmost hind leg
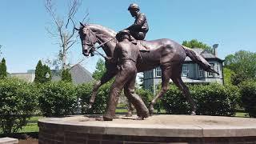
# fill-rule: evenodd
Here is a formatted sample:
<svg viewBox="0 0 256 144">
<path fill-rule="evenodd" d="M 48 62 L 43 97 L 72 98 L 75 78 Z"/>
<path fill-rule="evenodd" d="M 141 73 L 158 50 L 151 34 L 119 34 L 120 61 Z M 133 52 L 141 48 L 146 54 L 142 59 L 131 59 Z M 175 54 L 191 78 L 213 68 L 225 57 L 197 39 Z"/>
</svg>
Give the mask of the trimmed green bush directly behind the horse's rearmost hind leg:
<svg viewBox="0 0 256 144">
<path fill-rule="evenodd" d="M 218 83 L 210 85 L 190 86 L 191 97 L 198 106 L 197 114 L 206 115 L 234 115 L 235 106 L 238 104 L 238 88 L 225 87 Z M 163 106 L 170 114 L 189 114 L 190 105 L 176 86 L 162 98 Z"/>
</svg>

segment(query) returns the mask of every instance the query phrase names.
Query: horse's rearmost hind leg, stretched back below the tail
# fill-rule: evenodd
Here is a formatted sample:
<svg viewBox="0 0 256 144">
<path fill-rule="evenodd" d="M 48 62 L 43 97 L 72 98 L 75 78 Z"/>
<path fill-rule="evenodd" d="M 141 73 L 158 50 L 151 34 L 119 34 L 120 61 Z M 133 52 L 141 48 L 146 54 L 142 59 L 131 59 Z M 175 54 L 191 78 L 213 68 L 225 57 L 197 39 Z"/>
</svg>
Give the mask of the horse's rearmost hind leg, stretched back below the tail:
<svg viewBox="0 0 256 144">
<path fill-rule="evenodd" d="M 189 88 L 185 85 L 185 83 L 182 81 L 182 78 L 180 76 L 181 74 L 176 75 L 177 77 L 172 78 L 174 84 L 176 86 L 178 86 L 178 88 L 180 90 L 182 90 L 182 94 L 184 94 L 186 96 L 186 100 L 190 103 L 191 106 L 191 115 L 195 115 L 195 111 L 196 111 L 196 104 L 194 102 L 194 99 L 191 98 L 190 95 L 190 90 Z"/>
</svg>

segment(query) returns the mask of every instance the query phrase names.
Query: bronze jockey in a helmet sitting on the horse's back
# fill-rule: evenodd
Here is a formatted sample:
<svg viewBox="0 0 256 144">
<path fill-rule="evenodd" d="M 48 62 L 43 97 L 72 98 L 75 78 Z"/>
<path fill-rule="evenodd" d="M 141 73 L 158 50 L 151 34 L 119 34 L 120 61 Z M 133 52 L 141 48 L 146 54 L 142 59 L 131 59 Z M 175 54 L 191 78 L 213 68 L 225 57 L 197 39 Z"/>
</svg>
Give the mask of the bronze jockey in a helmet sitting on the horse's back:
<svg viewBox="0 0 256 144">
<path fill-rule="evenodd" d="M 135 3 L 130 4 L 128 10 L 131 16 L 135 18 L 135 22 L 133 25 L 127 27 L 126 30 L 129 30 L 130 35 L 135 39 L 143 40 L 149 30 L 146 15 L 140 12 L 139 6 Z"/>
</svg>

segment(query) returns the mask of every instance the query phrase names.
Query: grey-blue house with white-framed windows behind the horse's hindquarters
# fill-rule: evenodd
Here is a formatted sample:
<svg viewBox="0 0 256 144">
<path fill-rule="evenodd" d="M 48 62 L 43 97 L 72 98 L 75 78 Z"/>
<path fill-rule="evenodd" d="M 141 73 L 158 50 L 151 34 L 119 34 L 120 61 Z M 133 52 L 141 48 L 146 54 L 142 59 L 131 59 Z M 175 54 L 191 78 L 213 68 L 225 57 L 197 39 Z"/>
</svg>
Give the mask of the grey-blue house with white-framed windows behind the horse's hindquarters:
<svg viewBox="0 0 256 144">
<path fill-rule="evenodd" d="M 217 50 L 214 49 L 214 52 L 210 50 L 203 50 L 200 48 L 194 48 L 195 52 L 200 54 L 203 58 L 206 58 L 206 61 L 214 67 L 218 74 L 206 72 L 202 70 L 196 62 L 193 62 L 189 57 L 186 57 L 185 62 L 182 65 L 182 80 L 186 83 L 210 83 L 218 82 L 223 84 L 223 60 L 218 58 Z M 154 70 L 148 70 L 143 72 L 143 82 L 145 89 L 152 91 L 155 94 L 157 86 L 161 84 L 161 69 L 160 67 L 155 68 Z M 170 80 L 170 82 L 172 82 Z"/>
</svg>

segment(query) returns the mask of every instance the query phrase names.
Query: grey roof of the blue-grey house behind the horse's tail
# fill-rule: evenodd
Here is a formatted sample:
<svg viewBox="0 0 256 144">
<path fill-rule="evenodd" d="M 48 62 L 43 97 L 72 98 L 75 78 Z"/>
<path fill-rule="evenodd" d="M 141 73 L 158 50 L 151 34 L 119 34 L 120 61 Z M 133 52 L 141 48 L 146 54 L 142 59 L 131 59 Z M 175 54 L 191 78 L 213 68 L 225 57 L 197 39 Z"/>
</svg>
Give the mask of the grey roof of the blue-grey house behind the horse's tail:
<svg viewBox="0 0 256 144">
<path fill-rule="evenodd" d="M 216 57 L 214 54 L 212 54 L 209 50 L 203 50 L 201 48 L 193 48 L 196 53 L 200 54 L 203 58 L 207 59 L 216 59 L 218 61 L 223 61 L 222 59 Z M 185 62 L 192 61 L 189 57 L 186 57 Z"/>
</svg>

